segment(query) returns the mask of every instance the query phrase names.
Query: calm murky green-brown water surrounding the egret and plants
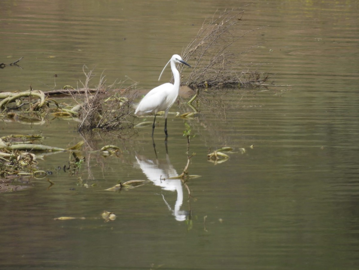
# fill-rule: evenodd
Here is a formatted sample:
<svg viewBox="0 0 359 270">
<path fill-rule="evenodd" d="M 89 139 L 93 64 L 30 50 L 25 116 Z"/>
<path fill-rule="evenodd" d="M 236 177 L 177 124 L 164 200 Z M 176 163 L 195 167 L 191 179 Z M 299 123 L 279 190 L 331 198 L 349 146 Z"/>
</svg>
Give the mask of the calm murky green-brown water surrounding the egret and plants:
<svg viewBox="0 0 359 270">
<path fill-rule="evenodd" d="M 158 159 L 150 127 L 125 138 L 82 137 L 71 120 L 42 125 L 1 120 L 0 135 L 42 133 L 44 144 L 57 147 L 84 139 L 87 162 L 71 176 L 57 169 L 68 163 L 68 154 L 46 156 L 39 169 L 53 172 L 48 178 L 54 186 L 34 179 L 26 191 L 1 194 L 0 267 L 357 269 L 358 3 L 252 2 L 238 33 L 268 27 L 241 38 L 238 51 L 260 44 L 242 61 L 278 72 L 275 84 L 293 86 L 201 97 L 199 118 L 188 121 L 195 135 L 190 153 L 196 153 L 189 172 L 202 176 L 188 182 L 190 200 L 178 180 L 161 180 L 180 174 L 187 163 L 182 119 L 168 119 L 166 155 L 159 118 Z M 109 83 L 131 78 L 123 84 L 136 81 L 138 88 L 150 89 L 206 17 L 238 5 L 3 0 L 0 62 L 24 59 L 23 69 L 0 70 L 0 91 L 76 86 L 84 79 L 84 64 L 98 76 L 105 70 Z M 169 71 L 165 76 L 169 79 Z M 189 110 L 183 104 L 171 109 Z M 104 158 L 89 152 L 106 144 L 120 146 L 122 154 Z M 208 150 L 222 146 L 236 153 L 214 165 Z M 80 176 L 90 187 L 79 184 Z M 134 179 L 151 182 L 103 191 Z M 117 219 L 105 223 L 103 210 Z M 53 220 L 60 216 L 86 219 Z"/>
</svg>

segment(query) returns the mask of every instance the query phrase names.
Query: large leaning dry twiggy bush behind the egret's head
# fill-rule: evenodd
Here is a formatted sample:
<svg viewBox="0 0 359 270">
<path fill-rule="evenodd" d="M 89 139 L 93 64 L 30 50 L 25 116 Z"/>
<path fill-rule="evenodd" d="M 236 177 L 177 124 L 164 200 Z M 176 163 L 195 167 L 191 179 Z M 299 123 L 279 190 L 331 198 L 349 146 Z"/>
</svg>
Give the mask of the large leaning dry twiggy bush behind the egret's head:
<svg viewBox="0 0 359 270">
<path fill-rule="evenodd" d="M 244 35 L 262 29 L 256 28 L 241 35 L 235 26 L 242 21 L 244 11 L 225 10 L 218 18 L 205 20 L 195 39 L 182 52 L 183 59 L 195 61 L 192 72 L 182 84 L 197 87 L 261 87 L 271 77 L 268 73 L 251 72 L 240 63 L 239 57 L 253 47 L 234 53 L 230 49 Z M 215 14 L 216 15 L 216 14 Z M 214 16 L 215 16 L 214 15 Z M 183 67 L 181 67 L 183 69 Z"/>
</svg>

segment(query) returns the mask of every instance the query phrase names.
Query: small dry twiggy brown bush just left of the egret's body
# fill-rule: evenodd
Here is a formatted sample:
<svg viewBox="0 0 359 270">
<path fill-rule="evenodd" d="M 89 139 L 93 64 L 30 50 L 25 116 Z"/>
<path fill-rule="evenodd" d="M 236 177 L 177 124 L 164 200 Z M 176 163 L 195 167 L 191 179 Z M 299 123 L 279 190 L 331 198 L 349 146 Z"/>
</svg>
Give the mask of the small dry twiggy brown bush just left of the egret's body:
<svg viewBox="0 0 359 270">
<path fill-rule="evenodd" d="M 93 70 L 85 71 L 86 81 L 83 84 L 84 100 L 81 104 L 79 131 L 103 129 L 121 129 L 123 124 L 132 125 L 126 118 L 133 113 L 130 90 L 136 83 L 125 90 L 114 90 L 115 83 L 106 86 L 105 76 L 101 74 L 94 94 L 90 93 L 89 82 L 93 78 Z M 74 96 L 74 99 L 76 97 Z"/>
</svg>

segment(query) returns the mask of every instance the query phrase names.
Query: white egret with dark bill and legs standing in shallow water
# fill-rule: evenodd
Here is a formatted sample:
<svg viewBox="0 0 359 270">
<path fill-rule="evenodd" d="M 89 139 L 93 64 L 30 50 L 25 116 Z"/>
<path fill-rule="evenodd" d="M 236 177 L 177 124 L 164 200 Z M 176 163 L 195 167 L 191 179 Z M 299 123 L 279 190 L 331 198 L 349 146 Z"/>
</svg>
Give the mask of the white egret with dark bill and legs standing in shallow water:
<svg viewBox="0 0 359 270">
<path fill-rule="evenodd" d="M 176 63 L 185 64 L 188 67 L 191 67 L 185 61 L 183 61 L 181 56 L 179 56 L 178 54 L 174 54 L 171 57 L 171 59 L 169 59 L 168 63 L 170 62 L 171 62 L 171 70 L 173 73 L 174 83 L 173 84 L 164 83 L 161 84 L 160 86 L 153 88 L 150 92 L 147 93 L 147 95 L 143 97 L 143 99 L 140 101 L 135 111 L 136 116 L 147 115 L 147 114 L 155 115 L 155 119 L 153 119 L 153 126 L 152 126 L 152 138 L 155 129 L 156 115 L 159 111 L 164 111 L 164 119 L 165 119 L 164 133 L 166 134 L 166 137 L 168 137 L 167 134 L 168 110 L 176 101 L 178 96 L 178 91 L 180 91 L 180 73 L 176 68 Z M 160 80 L 162 73 L 164 69 L 167 67 L 168 63 L 164 66 L 161 74 L 159 75 L 158 80 Z"/>
</svg>

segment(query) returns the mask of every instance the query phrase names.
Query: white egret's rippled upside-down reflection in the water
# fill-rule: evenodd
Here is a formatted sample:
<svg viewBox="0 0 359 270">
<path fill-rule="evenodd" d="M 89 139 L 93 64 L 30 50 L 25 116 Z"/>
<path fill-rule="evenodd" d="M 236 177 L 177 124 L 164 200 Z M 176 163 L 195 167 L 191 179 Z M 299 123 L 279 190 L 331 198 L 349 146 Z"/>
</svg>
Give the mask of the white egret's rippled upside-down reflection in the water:
<svg viewBox="0 0 359 270">
<path fill-rule="evenodd" d="M 162 195 L 164 202 L 168 209 L 172 212 L 172 215 L 178 221 L 186 220 L 186 211 L 181 210 L 183 203 L 183 188 L 180 179 L 169 179 L 171 177 L 178 176 L 177 171 L 171 165 L 169 160 L 168 152 L 166 151 L 166 160 L 160 161 L 156 159 L 147 159 L 143 155 L 136 155 L 137 163 L 140 165 L 141 170 L 146 175 L 148 180 L 153 182 L 156 186 L 160 186 L 162 189 L 167 191 L 176 191 L 177 199 L 172 209 L 171 205 L 165 200 Z"/>
</svg>

